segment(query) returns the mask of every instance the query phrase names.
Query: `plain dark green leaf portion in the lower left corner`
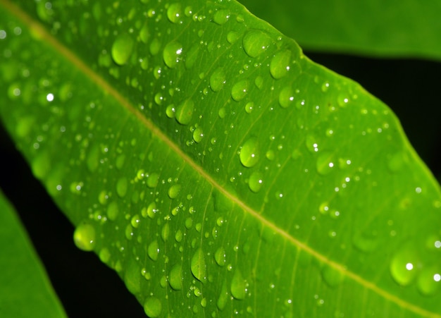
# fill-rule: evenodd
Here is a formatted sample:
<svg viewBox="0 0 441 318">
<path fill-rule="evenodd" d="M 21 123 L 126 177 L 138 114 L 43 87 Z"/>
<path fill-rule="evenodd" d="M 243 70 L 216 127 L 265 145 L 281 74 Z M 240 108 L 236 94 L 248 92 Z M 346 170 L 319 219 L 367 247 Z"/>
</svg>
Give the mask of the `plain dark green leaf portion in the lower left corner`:
<svg viewBox="0 0 441 318">
<path fill-rule="evenodd" d="M 4 317 L 66 317 L 25 229 L 0 191 L 0 313 Z"/>
</svg>

